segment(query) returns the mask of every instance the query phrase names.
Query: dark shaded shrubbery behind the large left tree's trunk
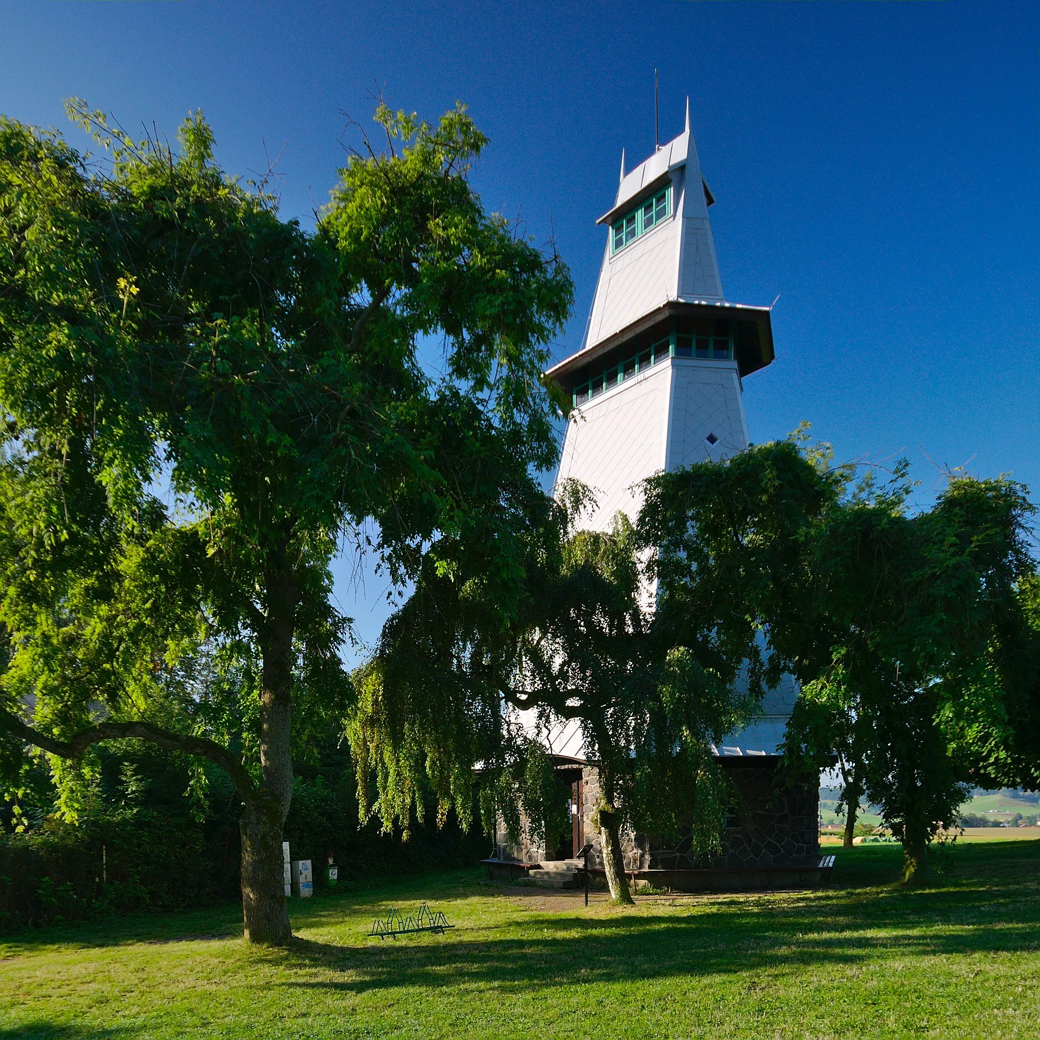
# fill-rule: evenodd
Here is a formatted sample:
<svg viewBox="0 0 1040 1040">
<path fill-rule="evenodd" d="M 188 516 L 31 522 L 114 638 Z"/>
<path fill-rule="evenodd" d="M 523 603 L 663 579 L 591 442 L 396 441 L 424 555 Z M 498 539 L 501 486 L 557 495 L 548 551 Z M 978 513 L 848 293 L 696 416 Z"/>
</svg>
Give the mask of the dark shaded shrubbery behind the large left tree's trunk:
<svg viewBox="0 0 1040 1040">
<path fill-rule="evenodd" d="M 237 896 L 241 803 L 219 770 L 203 763 L 206 782 L 191 797 L 198 760 L 188 756 L 128 740 L 99 747 L 95 764 L 76 825 L 55 814 L 58 792 L 47 771 L 32 771 L 25 823 L 18 833 L 0 828 L 0 932 Z M 284 838 L 294 859 L 313 861 L 319 889 L 329 852 L 342 881 L 365 883 L 468 866 L 487 853 L 484 838 L 465 834 L 453 814 L 441 828 L 434 813 L 425 824 L 413 817 L 408 842 L 360 826 L 353 765 L 334 729 L 294 769 Z"/>
</svg>

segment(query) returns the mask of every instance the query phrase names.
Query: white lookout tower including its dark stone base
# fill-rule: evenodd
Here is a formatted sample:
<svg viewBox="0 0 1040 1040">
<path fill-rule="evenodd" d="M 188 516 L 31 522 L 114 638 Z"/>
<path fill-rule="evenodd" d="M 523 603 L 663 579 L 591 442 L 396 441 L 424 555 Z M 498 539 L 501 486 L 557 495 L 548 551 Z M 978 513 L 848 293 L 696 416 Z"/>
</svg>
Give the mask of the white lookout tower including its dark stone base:
<svg viewBox="0 0 1040 1040">
<path fill-rule="evenodd" d="M 596 493 L 586 523 L 607 529 L 619 511 L 634 518 L 641 483 L 660 470 L 719 462 L 748 446 L 743 380 L 773 361 L 770 309 L 728 302 L 719 277 L 708 207 L 714 202 L 690 132 L 630 173 L 621 160 L 614 205 L 598 220 L 606 245 L 580 349 L 547 375 L 571 398 L 557 485 L 574 477 Z M 683 837 L 662 846 L 647 835 L 625 841 L 625 868 L 676 887 L 799 887 L 823 878 L 815 785 L 780 788 L 776 771 L 798 695 L 785 675 L 762 700 L 761 713 L 712 751 L 742 794 L 727 822 L 723 852 L 705 868 Z M 572 784 L 572 834 L 554 842 L 576 855 L 593 837 L 598 773 L 571 720 L 541 731 L 560 776 Z M 496 835 L 497 864 L 544 860 L 547 848 L 513 846 Z M 547 839 L 548 844 L 548 839 Z"/>
</svg>

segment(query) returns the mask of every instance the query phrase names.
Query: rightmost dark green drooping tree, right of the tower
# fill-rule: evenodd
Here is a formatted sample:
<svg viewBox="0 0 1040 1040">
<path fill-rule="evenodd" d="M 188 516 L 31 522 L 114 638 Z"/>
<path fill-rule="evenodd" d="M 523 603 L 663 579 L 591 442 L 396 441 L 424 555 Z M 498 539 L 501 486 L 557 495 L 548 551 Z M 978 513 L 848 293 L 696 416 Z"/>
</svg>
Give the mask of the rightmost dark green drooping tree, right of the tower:
<svg viewBox="0 0 1040 1040">
<path fill-rule="evenodd" d="M 955 474 L 916 514 L 905 486 L 841 501 L 812 539 L 814 609 L 840 633 L 820 676 L 846 691 L 863 789 L 903 842 L 908 882 L 1012 738 L 1032 513 L 1020 485 Z"/>
</svg>

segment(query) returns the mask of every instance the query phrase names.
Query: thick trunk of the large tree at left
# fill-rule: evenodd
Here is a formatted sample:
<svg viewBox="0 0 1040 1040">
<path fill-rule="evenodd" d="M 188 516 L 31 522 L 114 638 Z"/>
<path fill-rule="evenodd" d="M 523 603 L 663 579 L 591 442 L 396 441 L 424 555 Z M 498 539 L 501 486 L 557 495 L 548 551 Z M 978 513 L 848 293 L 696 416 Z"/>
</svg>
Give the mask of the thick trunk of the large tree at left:
<svg viewBox="0 0 1040 1040">
<path fill-rule="evenodd" d="M 292 801 L 292 638 L 295 589 L 267 576 L 267 623 L 260 691 L 261 789 L 245 806 L 242 832 L 242 918 L 245 939 L 284 946 L 292 938 L 285 904 L 282 825 Z"/>
</svg>

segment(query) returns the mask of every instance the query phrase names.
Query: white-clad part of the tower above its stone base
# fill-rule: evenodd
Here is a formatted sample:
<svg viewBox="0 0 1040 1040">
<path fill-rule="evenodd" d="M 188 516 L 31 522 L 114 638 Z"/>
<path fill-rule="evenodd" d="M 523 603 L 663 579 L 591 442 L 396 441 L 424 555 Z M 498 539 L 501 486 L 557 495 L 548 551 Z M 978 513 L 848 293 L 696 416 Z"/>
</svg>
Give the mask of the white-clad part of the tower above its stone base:
<svg viewBox="0 0 1040 1040">
<path fill-rule="evenodd" d="M 598 500 L 586 523 L 607 529 L 620 510 L 634 519 L 639 486 L 660 470 L 719 461 L 748 446 L 742 380 L 774 359 L 768 307 L 727 303 L 708 206 L 686 126 L 625 174 L 598 224 L 607 241 L 581 348 L 546 373 L 570 394 L 556 483 L 574 477 Z M 719 749 L 775 755 L 797 691 L 789 676 L 764 717 Z M 576 726 L 554 750 L 579 757 Z"/>
</svg>

